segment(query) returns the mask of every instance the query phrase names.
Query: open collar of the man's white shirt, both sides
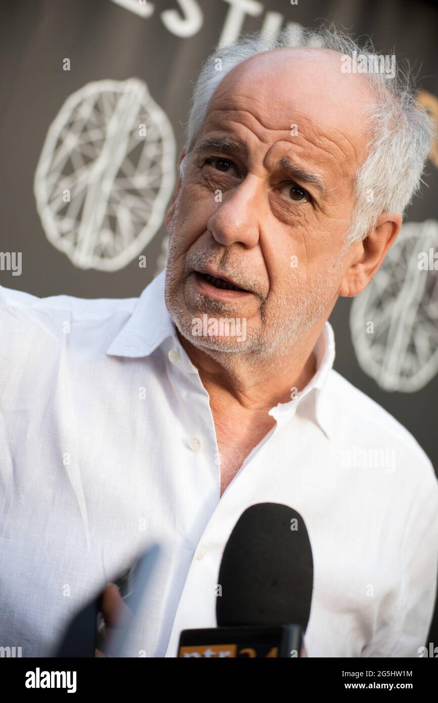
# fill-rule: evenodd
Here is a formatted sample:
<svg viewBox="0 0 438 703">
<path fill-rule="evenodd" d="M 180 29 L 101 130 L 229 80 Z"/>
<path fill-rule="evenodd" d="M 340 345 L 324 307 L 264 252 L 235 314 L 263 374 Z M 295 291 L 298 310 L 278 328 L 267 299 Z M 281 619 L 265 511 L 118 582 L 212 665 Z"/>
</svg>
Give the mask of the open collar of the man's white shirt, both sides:
<svg viewBox="0 0 438 703">
<path fill-rule="evenodd" d="M 172 319 L 165 305 L 165 271 L 158 274 L 142 292 L 131 317 L 120 333 L 112 340 L 106 353 L 110 356 L 131 358 L 149 356 L 168 337 L 173 337 L 183 357 L 183 366 L 188 373 L 198 373 L 176 337 Z M 305 414 L 316 422 L 330 437 L 333 427 L 333 411 L 328 402 L 327 378 L 335 360 L 335 335 L 326 322 L 314 347 L 316 372 L 306 387 L 288 403 L 279 403 L 271 408 L 269 415 L 283 424 L 298 414 Z"/>
</svg>

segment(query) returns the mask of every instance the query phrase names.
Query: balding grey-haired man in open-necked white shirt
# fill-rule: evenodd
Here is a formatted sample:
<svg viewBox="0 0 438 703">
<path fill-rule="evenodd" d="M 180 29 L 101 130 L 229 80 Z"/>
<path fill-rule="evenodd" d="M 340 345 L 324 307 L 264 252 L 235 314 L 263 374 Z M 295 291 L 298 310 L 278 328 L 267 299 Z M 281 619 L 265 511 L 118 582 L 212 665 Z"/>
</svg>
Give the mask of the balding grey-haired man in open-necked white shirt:
<svg viewBox="0 0 438 703">
<path fill-rule="evenodd" d="M 437 479 L 335 373 L 328 316 L 397 238 L 431 129 L 399 78 L 344 70 L 354 51 L 321 30 L 210 58 L 167 271 L 139 299 L 2 291 L 1 645 L 49 654 L 75 610 L 158 542 L 131 655 L 174 657 L 183 628 L 215 624 L 238 517 L 269 501 L 309 531 L 309 656 L 418 656 Z"/>
</svg>

